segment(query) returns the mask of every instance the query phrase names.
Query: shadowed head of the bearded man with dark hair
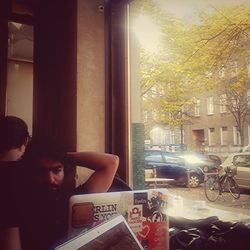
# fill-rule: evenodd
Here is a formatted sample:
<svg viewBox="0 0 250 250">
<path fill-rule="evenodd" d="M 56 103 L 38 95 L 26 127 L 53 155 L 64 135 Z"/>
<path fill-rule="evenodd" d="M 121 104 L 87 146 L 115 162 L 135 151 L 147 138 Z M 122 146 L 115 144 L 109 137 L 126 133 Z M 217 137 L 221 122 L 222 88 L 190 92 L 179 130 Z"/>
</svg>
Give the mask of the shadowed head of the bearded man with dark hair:
<svg viewBox="0 0 250 250">
<path fill-rule="evenodd" d="M 45 192 L 60 189 L 64 182 L 64 171 L 67 166 L 65 156 L 65 151 L 53 140 L 32 138 L 24 159 L 35 187 Z"/>
</svg>

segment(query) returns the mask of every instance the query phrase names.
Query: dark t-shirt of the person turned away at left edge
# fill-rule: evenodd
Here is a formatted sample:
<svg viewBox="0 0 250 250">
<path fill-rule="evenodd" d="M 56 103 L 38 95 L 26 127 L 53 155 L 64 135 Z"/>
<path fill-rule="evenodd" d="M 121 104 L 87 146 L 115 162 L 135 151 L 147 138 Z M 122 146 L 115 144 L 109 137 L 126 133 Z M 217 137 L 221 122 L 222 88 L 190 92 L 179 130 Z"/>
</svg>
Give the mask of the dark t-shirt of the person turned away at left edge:
<svg viewBox="0 0 250 250">
<path fill-rule="evenodd" d="M 0 161 L 0 228 L 19 225 L 22 170 L 21 161 Z"/>
</svg>

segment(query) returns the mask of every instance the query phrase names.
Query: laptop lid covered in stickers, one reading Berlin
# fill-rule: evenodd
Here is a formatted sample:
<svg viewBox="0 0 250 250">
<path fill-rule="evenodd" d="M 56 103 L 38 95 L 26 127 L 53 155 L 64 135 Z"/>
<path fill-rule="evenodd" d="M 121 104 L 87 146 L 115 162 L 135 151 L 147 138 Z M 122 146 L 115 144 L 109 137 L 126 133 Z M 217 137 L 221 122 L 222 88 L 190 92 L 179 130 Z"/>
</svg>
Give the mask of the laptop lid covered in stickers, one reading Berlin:
<svg viewBox="0 0 250 250">
<path fill-rule="evenodd" d="M 168 249 L 165 188 L 73 195 L 69 200 L 69 237 L 122 215 L 144 249 Z"/>
</svg>

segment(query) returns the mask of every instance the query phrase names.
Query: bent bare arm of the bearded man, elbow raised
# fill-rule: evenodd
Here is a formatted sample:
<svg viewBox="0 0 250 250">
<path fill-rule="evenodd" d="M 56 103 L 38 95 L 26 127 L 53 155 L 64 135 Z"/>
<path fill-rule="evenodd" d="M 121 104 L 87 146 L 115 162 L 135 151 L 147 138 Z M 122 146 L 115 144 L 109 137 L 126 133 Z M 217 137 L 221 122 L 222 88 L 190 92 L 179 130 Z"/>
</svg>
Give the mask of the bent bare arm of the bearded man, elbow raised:
<svg viewBox="0 0 250 250">
<path fill-rule="evenodd" d="M 95 171 L 85 183 L 89 193 L 106 192 L 109 189 L 119 165 L 117 155 L 96 152 L 68 152 L 67 156 L 73 164 Z"/>
</svg>

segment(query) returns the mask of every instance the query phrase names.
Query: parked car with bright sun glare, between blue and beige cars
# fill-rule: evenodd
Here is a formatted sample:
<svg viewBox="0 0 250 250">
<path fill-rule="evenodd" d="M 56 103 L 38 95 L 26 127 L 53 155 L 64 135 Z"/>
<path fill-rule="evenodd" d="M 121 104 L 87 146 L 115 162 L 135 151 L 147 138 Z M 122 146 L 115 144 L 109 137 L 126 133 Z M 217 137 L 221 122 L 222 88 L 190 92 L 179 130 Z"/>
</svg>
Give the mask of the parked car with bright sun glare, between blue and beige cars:
<svg viewBox="0 0 250 250">
<path fill-rule="evenodd" d="M 204 172 L 212 172 L 221 165 L 221 159 L 213 154 L 185 153 L 180 155 L 186 164 L 192 167 L 200 167 Z"/>
</svg>

